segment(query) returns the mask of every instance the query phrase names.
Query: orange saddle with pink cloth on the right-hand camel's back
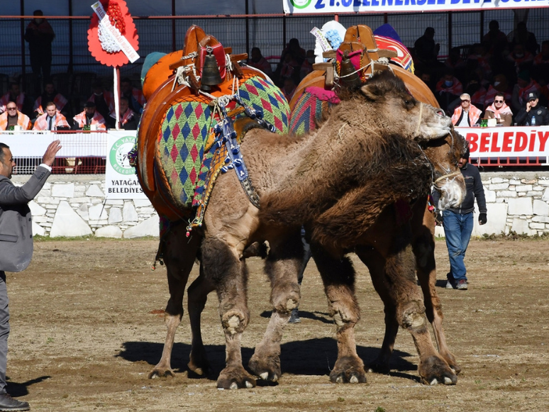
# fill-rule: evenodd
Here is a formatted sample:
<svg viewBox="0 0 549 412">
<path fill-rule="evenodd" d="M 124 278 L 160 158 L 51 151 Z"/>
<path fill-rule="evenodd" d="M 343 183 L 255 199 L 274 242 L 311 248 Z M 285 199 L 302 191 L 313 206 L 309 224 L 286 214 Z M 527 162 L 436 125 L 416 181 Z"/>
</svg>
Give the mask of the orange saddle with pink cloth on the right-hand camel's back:
<svg viewBox="0 0 549 412">
<path fill-rule="evenodd" d="M 343 28 L 339 23 L 330 23 Z M 328 33 L 333 33 L 333 28 Z M 414 75 L 408 50 L 397 40 L 374 35 L 372 29 L 364 25 L 348 28 L 342 33 L 342 38 L 331 35 L 331 41 L 322 38 L 320 30 L 315 35 L 321 38 L 320 43 L 324 45 L 324 50 L 320 52 L 327 61 L 315 63 L 313 72 L 304 77 L 296 87 L 289 103 L 292 111 L 292 132 L 299 135 L 313 130 L 328 108 L 339 103 L 338 91 L 341 88 L 360 86 L 372 74 L 382 70 L 392 70 L 404 80 L 406 87 L 418 101 L 438 106 L 431 90 Z M 331 49 L 334 45 L 335 48 Z"/>
</svg>

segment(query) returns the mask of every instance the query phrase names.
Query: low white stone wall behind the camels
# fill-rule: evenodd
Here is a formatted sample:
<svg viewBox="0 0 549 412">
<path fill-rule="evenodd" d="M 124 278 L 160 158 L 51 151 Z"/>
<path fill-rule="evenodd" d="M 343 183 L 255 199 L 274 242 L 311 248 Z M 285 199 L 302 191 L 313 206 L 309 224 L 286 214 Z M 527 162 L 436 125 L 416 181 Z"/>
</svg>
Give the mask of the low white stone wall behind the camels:
<svg viewBox="0 0 549 412">
<path fill-rule="evenodd" d="M 549 171 L 481 172 L 488 223 L 473 235 L 549 233 Z M 13 176 L 23 184 L 28 176 Z M 96 235 L 109 238 L 157 236 L 158 216 L 148 200 L 107 200 L 105 177 L 53 174 L 34 201 L 33 232 L 45 236 Z M 478 211 L 475 211 L 477 216 Z M 437 227 L 436 235 L 443 236 Z"/>
</svg>

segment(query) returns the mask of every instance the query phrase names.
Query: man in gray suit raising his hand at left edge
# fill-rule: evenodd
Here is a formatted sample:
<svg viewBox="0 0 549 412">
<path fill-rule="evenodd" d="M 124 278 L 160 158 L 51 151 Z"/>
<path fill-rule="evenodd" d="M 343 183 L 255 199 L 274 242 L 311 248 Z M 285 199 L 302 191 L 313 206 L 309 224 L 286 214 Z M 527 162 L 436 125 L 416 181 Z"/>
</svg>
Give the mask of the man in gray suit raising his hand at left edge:
<svg viewBox="0 0 549 412">
<path fill-rule="evenodd" d="M 28 402 L 13 399 L 6 392 L 9 308 L 6 273 L 21 272 L 33 256 L 33 227 L 28 202 L 34 199 L 50 176 L 55 155 L 61 149 L 55 140 L 46 149 L 42 163 L 26 184 L 11 182 L 16 163 L 9 146 L 0 143 L 0 411 L 28 411 Z"/>
</svg>

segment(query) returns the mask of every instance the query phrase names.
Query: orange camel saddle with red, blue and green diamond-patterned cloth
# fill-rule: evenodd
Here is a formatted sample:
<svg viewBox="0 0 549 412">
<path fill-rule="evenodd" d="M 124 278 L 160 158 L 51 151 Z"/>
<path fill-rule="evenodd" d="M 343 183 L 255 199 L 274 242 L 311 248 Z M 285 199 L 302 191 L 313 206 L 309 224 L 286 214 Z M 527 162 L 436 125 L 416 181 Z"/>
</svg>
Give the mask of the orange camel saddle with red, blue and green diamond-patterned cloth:
<svg viewBox="0 0 549 412">
<path fill-rule="evenodd" d="M 161 221 L 190 222 L 189 231 L 201 226 L 215 179 L 225 172 L 236 172 L 257 206 L 239 143 L 250 128 L 287 133 L 289 106 L 264 73 L 238 64 L 246 57 L 192 26 L 183 50 L 145 75 L 148 101 L 133 158 Z"/>
</svg>

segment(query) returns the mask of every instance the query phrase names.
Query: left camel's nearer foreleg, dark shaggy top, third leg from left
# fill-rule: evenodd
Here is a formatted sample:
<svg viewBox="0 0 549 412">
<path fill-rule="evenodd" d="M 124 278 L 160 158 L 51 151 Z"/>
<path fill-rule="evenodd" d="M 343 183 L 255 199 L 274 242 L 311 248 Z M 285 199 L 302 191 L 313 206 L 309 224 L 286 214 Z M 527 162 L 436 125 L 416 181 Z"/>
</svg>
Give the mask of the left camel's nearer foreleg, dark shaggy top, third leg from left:
<svg viewBox="0 0 549 412">
<path fill-rule="evenodd" d="M 216 289 L 219 316 L 226 343 L 226 367 L 217 379 L 219 389 L 251 388 L 255 379 L 245 371 L 240 352 L 242 333 L 250 321 L 246 287 L 248 271 L 227 243 L 217 238 L 205 238 L 202 243 L 204 275 Z"/>
</svg>

